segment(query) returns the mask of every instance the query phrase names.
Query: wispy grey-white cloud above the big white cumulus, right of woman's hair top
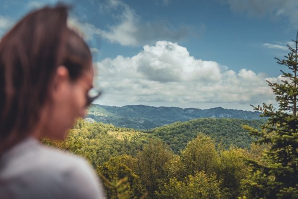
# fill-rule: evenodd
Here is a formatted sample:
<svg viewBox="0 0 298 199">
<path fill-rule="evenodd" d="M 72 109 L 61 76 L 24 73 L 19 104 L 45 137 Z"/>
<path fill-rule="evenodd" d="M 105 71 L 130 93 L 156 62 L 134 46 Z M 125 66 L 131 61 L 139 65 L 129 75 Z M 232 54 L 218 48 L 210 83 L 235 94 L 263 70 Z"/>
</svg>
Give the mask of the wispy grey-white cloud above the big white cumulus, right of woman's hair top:
<svg viewBox="0 0 298 199">
<path fill-rule="evenodd" d="M 194 31 L 187 25 L 174 28 L 169 22 L 163 20 L 143 21 L 132 8 L 119 0 L 108 0 L 107 3 L 101 4 L 100 10 L 102 13 L 113 16 L 117 22 L 103 29 L 90 23 L 82 23 L 78 18 L 72 17 L 70 24 L 83 30 L 86 39 L 100 36 L 123 46 L 139 46 L 161 39 L 178 41 L 186 36 L 194 35 Z M 204 30 L 205 25 L 201 24 L 196 32 L 201 34 Z"/>
</svg>

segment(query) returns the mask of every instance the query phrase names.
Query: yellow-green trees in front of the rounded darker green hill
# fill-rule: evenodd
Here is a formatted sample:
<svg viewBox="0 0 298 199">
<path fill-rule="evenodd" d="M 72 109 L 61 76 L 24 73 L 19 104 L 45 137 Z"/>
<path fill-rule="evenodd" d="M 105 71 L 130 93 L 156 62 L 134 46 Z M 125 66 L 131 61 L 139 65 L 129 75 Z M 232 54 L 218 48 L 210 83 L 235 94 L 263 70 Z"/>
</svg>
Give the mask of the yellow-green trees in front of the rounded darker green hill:
<svg viewBox="0 0 298 199">
<path fill-rule="evenodd" d="M 85 157 L 109 199 L 236 199 L 245 192 L 241 181 L 249 174 L 243 158 L 260 161 L 266 148 L 226 148 L 195 131 L 176 154 L 156 137 L 119 140 L 108 130 L 117 128 L 78 120 L 65 142 L 43 142 Z"/>
</svg>

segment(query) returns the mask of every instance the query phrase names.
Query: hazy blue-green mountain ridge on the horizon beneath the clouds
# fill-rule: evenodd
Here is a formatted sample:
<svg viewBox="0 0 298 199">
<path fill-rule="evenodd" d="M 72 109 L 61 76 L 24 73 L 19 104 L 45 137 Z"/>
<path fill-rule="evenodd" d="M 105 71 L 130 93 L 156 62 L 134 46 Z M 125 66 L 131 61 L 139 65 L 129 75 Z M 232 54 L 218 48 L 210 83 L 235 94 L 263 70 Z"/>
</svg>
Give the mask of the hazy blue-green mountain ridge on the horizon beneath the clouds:
<svg viewBox="0 0 298 199">
<path fill-rule="evenodd" d="M 97 122 L 135 129 L 150 129 L 176 121 L 187 121 L 202 117 L 260 119 L 259 115 L 260 112 L 258 111 L 225 109 L 222 107 L 199 109 L 147 105 L 118 107 L 92 104 L 88 109 L 88 117 Z"/>
</svg>

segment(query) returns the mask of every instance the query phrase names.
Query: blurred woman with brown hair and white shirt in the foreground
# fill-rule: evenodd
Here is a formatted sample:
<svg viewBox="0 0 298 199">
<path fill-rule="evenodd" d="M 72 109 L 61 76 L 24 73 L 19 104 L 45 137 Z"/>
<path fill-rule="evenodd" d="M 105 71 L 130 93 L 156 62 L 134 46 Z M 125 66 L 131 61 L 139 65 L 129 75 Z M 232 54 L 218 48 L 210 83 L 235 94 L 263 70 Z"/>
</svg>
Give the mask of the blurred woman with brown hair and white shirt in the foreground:
<svg viewBox="0 0 298 199">
<path fill-rule="evenodd" d="M 67 7 L 23 17 L 0 41 L 0 199 L 100 199 L 93 169 L 42 146 L 63 140 L 94 100 L 90 50 L 67 26 Z"/>
</svg>

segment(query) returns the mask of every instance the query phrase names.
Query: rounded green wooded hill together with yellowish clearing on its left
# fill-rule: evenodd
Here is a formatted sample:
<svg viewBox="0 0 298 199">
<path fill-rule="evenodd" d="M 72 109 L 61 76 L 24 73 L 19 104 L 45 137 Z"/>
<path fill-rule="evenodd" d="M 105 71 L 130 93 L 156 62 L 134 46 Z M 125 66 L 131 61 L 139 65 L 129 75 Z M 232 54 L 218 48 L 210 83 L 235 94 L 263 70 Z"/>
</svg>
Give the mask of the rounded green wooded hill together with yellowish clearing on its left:
<svg viewBox="0 0 298 199">
<path fill-rule="evenodd" d="M 89 119 L 85 119 L 90 123 Z M 92 122 L 106 129 L 107 135 L 119 140 L 144 143 L 148 138 L 157 138 L 169 145 L 175 152 L 179 153 L 186 144 L 196 138 L 199 133 L 212 137 L 216 144 L 228 149 L 230 146 L 249 148 L 254 140 L 248 132 L 242 128 L 243 124 L 253 128 L 259 128 L 266 120 L 257 119 L 235 119 L 235 118 L 199 118 L 184 122 L 174 122 L 149 130 L 138 131 L 132 128 L 116 127 L 112 124 Z M 90 123 L 91 124 L 91 123 Z"/>
</svg>

